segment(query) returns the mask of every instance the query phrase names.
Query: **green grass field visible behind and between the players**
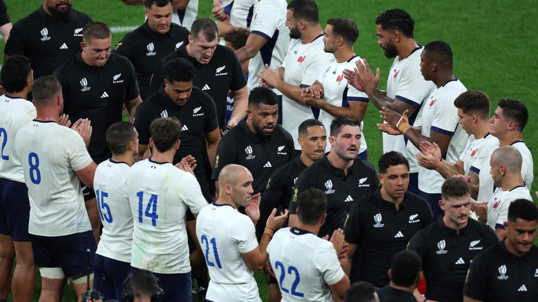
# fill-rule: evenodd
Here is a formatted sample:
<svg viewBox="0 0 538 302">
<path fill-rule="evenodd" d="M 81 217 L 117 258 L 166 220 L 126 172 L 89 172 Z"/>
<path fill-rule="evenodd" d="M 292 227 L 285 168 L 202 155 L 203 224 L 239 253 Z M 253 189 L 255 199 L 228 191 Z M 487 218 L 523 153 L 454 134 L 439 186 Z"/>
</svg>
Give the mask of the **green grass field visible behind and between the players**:
<svg viewBox="0 0 538 302">
<path fill-rule="evenodd" d="M 42 0 L 5 2 L 13 24 L 43 4 Z M 538 40 L 531 35 L 538 28 L 538 4 L 535 1 L 521 0 L 513 5 L 499 0 L 318 0 L 317 3 L 323 27 L 325 21 L 332 17 L 352 18 L 356 21 L 360 35 L 355 51 L 369 61 L 372 69 L 380 67 L 382 89 L 385 87 L 392 59 L 386 59 L 377 44 L 374 21 L 379 13 L 385 10 L 402 8 L 416 21 L 414 35 L 417 43 L 426 45 L 433 40 L 448 42 L 454 52 L 455 75 L 467 89 L 481 90 L 489 95 L 493 103 L 492 111 L 497 107 L 497 100 L 503 98 L 521 100 L 527 105 L 530 114 L 538 109 L 538 92 L 534 86 L 538 80 L 538 61 L 532 55 L 538 48 Z M 211 0 L 200 1 L 198 17 L 212 17 L 212 6 Z M 119 0 L 73 0 L 73 8 L 86 12 L 95 21 L 102 21 L 109 26 L 133 26 L 144 22 L 143 7 L 125 6 Z M 112 46 L 116 45 L 124 34 L 114 33 Z M 2 40 L 2 51 L 3 45 Z M 3 55 L 0 54 L 0 57 Z M 376 123 L 380 121 L 376 108 L 369 106 L 364 119 L 364 135 L 369 147 L 369 161 L 376 167 L 383 152 L 381 133 L 376 127 Z M 538 150 L 537 135 L 534 132 L 536 127 L 538 122 L 534 118 L 529 119 L 524 134 L 527 146 L 533 153 Z M 536 164 L 534 170 L 536 171 Z M 536 178 L 533 188 L 538 190 Z M 256 277 L 260 296 L 267 301 L 267 286 L 263 276 L 258 272 Z M 35 301 L 39 299 L 39 292 L 38 277 Z M 9 299 L 12 301 L 11 296 Z M 75 301 L 70 285 L 66 286 L 62 301 Z"/>
</svg>

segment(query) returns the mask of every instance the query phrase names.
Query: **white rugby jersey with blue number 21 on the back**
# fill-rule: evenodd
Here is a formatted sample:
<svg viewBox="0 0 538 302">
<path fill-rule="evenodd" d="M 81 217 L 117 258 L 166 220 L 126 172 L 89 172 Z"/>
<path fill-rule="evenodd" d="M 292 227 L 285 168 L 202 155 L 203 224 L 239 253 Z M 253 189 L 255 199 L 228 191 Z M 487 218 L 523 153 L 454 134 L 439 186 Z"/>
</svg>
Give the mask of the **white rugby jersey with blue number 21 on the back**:
<svg viewBox="0 0 538 302">
<path fill-rule="evenodd" d="M 212 203 L 196 218 L 196 238 L 206 250 L 211 277 L 208 300 L 261 301 L 253 272 L 241 256 L 258 246 L 254 224 L 247 215 L 231 205 Z"/>
</svg>

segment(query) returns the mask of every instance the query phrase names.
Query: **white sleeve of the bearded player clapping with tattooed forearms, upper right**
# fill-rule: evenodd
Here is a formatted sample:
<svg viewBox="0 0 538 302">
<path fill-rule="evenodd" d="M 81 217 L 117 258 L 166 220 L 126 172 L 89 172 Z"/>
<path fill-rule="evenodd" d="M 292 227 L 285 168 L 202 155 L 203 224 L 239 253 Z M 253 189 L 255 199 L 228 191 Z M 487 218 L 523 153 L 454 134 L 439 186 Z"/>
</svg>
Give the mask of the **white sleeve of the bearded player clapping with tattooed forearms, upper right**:
<svg viewBox="0 0 538 302">
<path fill-rule="evenodd" d="M 399 99 L 404 103 L 416 107 L 422 104 L 424 98 L 428 96 L 431 89 L 431 83 L 424 80 L 420 73 L 420 66 L 408 66 L 402 74 L 398 90 L 396 91 L 395 99 Z"/>
</svg>

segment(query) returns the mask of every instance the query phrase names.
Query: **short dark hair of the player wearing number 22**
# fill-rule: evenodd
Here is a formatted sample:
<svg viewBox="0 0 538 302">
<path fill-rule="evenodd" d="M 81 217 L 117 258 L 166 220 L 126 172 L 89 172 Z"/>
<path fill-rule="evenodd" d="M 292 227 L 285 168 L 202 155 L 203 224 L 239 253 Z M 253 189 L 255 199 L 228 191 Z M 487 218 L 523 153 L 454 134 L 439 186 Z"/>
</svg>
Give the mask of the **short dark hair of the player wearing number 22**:
<svg viewBox="0 0 538 302">
<path fill-rule="evenodd" d="M 310 188 L 297 195 L 299 221 L 307 225 L 315 225 L 327 212 L 327 196 L 320 189 Z"/>
</svg>

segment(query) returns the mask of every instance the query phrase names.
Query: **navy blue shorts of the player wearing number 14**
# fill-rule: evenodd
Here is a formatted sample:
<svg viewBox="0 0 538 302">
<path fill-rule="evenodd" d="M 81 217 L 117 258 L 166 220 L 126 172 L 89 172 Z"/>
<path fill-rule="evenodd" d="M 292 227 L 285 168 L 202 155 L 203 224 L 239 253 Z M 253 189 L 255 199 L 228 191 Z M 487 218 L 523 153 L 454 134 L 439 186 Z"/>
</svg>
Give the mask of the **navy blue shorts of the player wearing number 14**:
<svg viewBox="0 0 538 302">
<path fill-rule="evenodd" d="M 137 268 L 131 267 L 131 271 Z M 192 302 L 193 301 L 193 280 L 190 272 L 185 274 L 158 274 L 153 273 L 159 279 L 159 286 L 164 295 L 158 302 Z"/>
</svg>

